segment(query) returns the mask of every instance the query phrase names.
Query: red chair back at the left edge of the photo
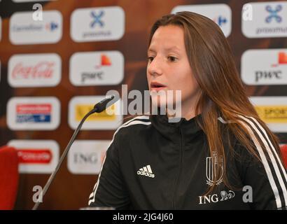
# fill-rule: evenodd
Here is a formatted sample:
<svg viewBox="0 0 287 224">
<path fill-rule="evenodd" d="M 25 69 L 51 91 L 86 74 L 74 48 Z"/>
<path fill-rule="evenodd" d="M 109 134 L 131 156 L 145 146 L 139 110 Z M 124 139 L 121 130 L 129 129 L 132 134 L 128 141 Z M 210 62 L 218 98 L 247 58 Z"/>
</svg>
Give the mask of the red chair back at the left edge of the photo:
<svg viewBox="0 0 287 224">
<path fill-rule="evenodd" d="M 0 209 L 14 208 L 18 192 L 18 155 L 15 148 L 0 148 Z"/>
</svg>

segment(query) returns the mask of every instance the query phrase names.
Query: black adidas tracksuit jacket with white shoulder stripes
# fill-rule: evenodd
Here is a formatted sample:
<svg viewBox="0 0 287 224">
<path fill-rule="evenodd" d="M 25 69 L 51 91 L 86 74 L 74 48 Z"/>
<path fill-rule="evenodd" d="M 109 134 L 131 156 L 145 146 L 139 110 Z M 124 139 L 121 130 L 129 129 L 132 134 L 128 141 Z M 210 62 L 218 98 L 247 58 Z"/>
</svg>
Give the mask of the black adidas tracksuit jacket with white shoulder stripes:
<svg viewBox="0 0 287 224">
<path fill-rule="evenodd" d="M 198 119 L 201 117 L 198 116 Z M 265 141 L 268 153 L 253 141 L 262 162 L 224 134 L 226 167 L 210 155 L 207 136 L 195 118 L 169 123 L 166 116 L 140 116 L 120 126 L 106 152 L 90 207 L 116 209 L 286 209 L 286 169 L 265 130 L 244 117 L 251 139 Z M 218 118 L 224 128 L 225 121 Z M 232 146 L 225 144 L 231 138 Z M 231 155 L 233 147 L 236 155 Z M 225 169 L 232 188 L 213 174 Z M 207 193 L 209 184 L 214 192 Z"/>
</svg>

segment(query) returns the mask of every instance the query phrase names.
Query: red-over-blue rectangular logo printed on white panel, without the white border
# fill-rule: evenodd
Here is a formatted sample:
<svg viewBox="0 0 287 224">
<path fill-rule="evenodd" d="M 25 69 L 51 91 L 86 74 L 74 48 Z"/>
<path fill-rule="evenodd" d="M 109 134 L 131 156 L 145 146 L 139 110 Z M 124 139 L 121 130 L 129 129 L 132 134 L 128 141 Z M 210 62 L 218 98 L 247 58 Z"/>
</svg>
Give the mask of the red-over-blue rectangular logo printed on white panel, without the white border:
<svg viewBox="0 0 287 224">
<path fill-rule="evenodd" d="M 16 123 L 50 123 L 51 104 L 18 104 Z"/>
</svg>

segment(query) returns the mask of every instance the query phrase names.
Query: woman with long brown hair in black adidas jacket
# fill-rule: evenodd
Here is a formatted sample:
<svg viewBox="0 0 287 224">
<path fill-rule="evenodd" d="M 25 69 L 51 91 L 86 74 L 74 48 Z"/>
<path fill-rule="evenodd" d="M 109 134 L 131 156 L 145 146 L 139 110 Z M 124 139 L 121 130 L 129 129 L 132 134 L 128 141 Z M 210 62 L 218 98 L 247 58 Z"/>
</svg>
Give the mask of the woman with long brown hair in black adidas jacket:
<svg viewBox="0 0 287 224">
<path fill-rule="evenodd" d="M 181 12 L 155 22 L 147 78 L 150 90 L 181 90 L 181 119 L 141 116 L 118 128 L 90 206 L 286 209 L 278 141 L 248 101 L 213 21 Z"/>
</svg>

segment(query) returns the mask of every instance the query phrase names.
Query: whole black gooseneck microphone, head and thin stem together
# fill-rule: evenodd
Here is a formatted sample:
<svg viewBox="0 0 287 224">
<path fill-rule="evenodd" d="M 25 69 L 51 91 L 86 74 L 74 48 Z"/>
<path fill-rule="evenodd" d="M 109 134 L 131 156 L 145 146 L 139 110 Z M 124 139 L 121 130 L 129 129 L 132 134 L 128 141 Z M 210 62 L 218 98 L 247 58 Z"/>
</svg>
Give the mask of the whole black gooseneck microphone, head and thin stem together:
<svg viewBox="0 0 287 224">
<path fill-rule="evenodd" d="M 101 113 L 102 111 L 106 110 L 106 108 L 108 108 L 112 104 L 116 103 L 118 101 L 118 99 L 119 99 L 119 97 L 116 97 L 116 95 L 114 95 L 114 94 L 106 97 L 105 99 L 103 99 L 99 103 L 95 104 L 94 108 L 83 117 L 83 119 L 80 121 L 80 124 L 78 125 L 77 129 L 75 130 L 75 132 L 73 132 L 73 136 L 71 137 L 69 144 L 66 146 L 64 153 L 62 154 L 61 158 L 59 159 L 59 162 L 57 164 L 57 167 L 55 168 L 55 171 L 52 172 L 47 183 L 45 184 L 43 191 L 40 194 L 42 199 L 44 198 L 45 193 L 47 192 L 48 188 L 50 187 L 50 184 L 52 183 L 53 179 L 55 179 L 55 176 L 59 170 L 59 167 L 61 167 L 62 162 L 64 161 L 64 158 L 66 157 L 66 154 L 68 154 L 69 149 L 71 148 L 71 145 L 73 144 L 73 141 L 76 139 L 76 136 L 77 136 L 78 132 L 80 131 L 80 128 L 82 127 L 83 123 L 87 119 L 87 117 L 90 116 L 92 113 Z M 40 203 L 41 202 L 39 202 L 39 201 L 36 202 L 34 204 L 34 207 L 32 208 L 32 210 L 38 209 L 38 206 Z"/>
</svg>

